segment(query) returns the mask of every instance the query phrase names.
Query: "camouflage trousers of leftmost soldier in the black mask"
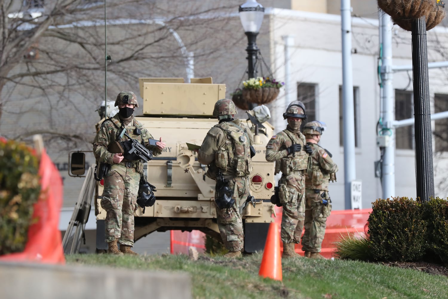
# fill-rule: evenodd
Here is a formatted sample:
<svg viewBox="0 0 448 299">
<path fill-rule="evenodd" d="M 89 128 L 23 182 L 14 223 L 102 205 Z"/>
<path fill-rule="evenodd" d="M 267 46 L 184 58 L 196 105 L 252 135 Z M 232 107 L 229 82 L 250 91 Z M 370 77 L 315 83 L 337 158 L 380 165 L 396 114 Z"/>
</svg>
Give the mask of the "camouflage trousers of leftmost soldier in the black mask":
<svg viewBox="0 0 448 299">
<path fill-rule="evenodd" d="M 134 245 L 134 211 L 140 173 L 135 168 L 112 165 L 104 177 L 101 207 L 106 210 L 106 242 L 118 239 L 123 245 Z"/>
</svg>

